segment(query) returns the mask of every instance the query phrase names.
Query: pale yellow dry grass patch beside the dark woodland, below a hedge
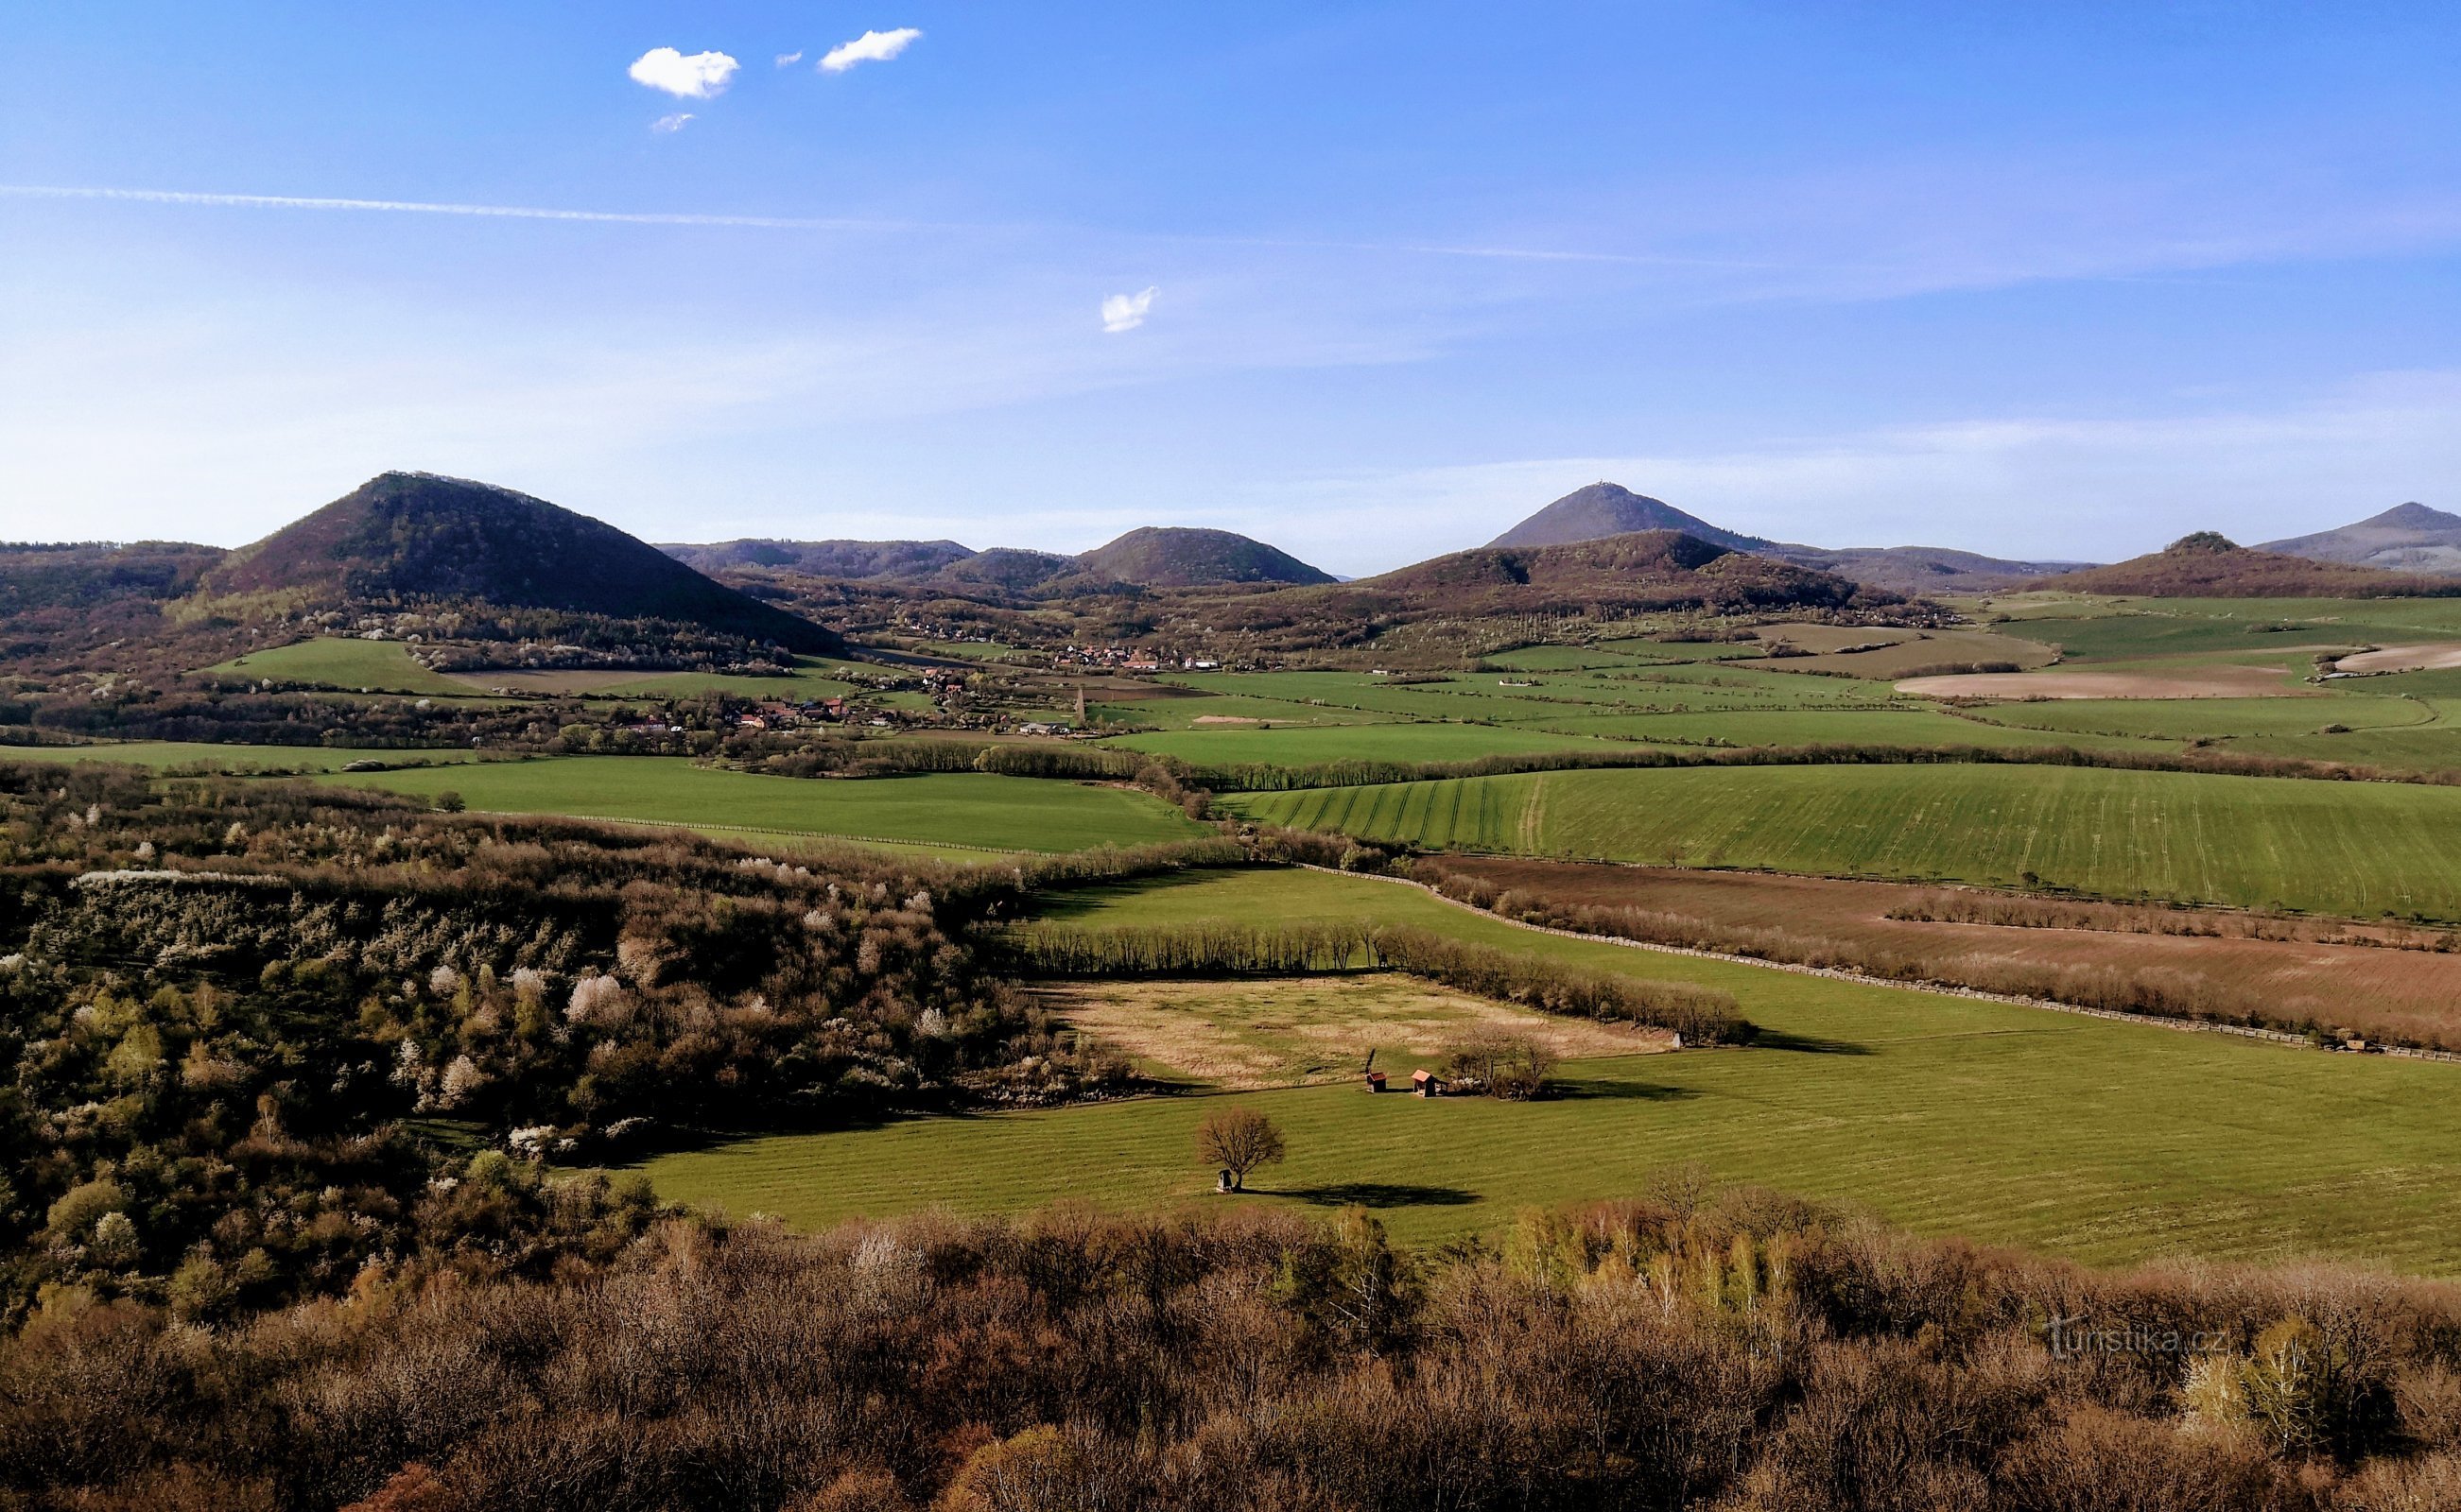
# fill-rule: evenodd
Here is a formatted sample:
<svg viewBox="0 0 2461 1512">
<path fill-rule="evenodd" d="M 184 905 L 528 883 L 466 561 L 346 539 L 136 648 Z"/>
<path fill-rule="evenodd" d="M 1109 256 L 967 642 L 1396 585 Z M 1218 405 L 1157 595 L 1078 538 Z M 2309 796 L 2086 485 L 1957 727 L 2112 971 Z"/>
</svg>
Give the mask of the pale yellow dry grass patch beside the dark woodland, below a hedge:
<svg viewBox="0 0 2461 1512">
<path fill-rule="evenodd" d="M 1477 1030 L 1531 1035 L 1560 1060 L 1644 1055 L 1671 1042 L 1664 1030 L 1553 1018 L 1395 974 L 1071 981 L 1036 996 L 1147 1074 L 1238 1089 L 1354 1079 L 1368 1050 L 1403 1084 Z"/>
</svg>

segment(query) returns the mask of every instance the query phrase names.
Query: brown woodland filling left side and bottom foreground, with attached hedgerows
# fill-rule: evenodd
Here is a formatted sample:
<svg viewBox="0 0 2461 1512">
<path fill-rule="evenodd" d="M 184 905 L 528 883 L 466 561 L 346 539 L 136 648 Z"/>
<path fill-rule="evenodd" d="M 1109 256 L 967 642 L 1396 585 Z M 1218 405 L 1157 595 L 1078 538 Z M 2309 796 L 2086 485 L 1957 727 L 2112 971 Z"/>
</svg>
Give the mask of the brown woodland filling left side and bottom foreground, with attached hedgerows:
<svg viewBox="0 0 2461 1512">
<path fill-rule="evenodd" d="M 1686 1170 L 1410 1254 L 1208 1200 L 788 1237 L 551 1163 L 1100 1094 L 982 924 L 1329 841 L 778 863 L 106 767 L 0 767 L 0 1510 L 2461 1505 L 2449 1283 L 2087 1271 Z"/>
</svg>

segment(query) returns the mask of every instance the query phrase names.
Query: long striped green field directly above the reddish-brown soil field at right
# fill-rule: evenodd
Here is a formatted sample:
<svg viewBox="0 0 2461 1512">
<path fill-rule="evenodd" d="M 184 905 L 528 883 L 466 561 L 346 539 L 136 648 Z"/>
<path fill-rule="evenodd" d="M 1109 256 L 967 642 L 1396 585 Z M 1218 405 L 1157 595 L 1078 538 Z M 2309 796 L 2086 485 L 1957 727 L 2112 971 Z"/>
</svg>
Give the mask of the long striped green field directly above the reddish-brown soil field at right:
<svg viewBox="0 0 2461 1512">
<path fill-rule="evenodd" d="M 1243 816 L 1523 856 L 2040 883 L 2461 919 L 2461 789 L 2094 767 L 1541 772 L 1223 799 Z"/>
</svg>

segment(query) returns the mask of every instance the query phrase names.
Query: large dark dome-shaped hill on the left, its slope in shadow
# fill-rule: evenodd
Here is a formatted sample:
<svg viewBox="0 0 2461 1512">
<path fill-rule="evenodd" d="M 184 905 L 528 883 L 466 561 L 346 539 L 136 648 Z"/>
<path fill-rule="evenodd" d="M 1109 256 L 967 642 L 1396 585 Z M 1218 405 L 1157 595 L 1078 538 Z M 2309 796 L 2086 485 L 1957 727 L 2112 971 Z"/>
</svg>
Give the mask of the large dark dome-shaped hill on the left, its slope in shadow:
<svg viewBox="0 0 2461 1512">
<path fill-rule="evenodd" d="M 384 472 L 315 514 L 241 546 L 197 585 L 199 600 L 293 605 L 485 602 L 669 620 L 834 652 L 834 632 L 763 605 L 615 526 L 495 484 Z"/>
</svg>

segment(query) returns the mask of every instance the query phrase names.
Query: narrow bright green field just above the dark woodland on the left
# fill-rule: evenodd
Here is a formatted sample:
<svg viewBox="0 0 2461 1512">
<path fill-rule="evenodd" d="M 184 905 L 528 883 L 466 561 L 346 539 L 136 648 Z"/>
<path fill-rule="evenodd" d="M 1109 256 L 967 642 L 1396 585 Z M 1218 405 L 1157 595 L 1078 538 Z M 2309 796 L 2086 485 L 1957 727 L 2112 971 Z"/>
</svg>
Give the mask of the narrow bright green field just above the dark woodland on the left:
<svg viewBox="0 0 2461 1512">
<path fill-rule="evenodd" d="M 935 772 L 832 782 L 696 767 L 684 757 L 544 757 L 453 772 L 335 774 L 327 782 L 433 799 L 458 792 L 473 809 L 640 819 L 711 831 L 790 831 L 992 851 L 1144 846 L 1206 833 L 1142 792 Z"/>
</svg>

